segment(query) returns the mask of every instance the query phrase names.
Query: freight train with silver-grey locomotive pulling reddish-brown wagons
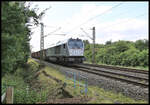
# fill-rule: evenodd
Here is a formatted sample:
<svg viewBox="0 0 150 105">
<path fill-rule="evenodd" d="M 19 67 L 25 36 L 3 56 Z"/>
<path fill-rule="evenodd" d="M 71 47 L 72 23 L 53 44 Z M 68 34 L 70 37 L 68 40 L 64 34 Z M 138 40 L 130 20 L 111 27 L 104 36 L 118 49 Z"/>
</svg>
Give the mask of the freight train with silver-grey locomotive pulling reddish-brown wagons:
<svg viewBox="0 0 150 105">
<path fill-rule="evenodd" d="M 59 41 L 55 45 L 44 49 L 44 60 L 58 63 L 83 63 L 84 43 L 81 39 L 69 38 Z M 40 58 L 40 51 L 31 54 L 33 58 Z"/>
</svg>

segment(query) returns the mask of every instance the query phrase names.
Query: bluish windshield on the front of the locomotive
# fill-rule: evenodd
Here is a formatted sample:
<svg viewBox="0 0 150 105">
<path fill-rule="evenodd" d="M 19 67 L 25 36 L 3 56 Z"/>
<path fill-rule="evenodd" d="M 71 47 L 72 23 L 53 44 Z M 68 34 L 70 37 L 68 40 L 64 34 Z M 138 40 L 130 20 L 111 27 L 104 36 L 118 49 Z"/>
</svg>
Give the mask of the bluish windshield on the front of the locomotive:
<svg viewBox="0 0 150 105">
<path fill-rule="evenodd" d="M 71 39 L 68 42 L 68 46 L 71 49 L 80 49 L 83 48 L 83 42 L 80 39 Z"/>
</svg>

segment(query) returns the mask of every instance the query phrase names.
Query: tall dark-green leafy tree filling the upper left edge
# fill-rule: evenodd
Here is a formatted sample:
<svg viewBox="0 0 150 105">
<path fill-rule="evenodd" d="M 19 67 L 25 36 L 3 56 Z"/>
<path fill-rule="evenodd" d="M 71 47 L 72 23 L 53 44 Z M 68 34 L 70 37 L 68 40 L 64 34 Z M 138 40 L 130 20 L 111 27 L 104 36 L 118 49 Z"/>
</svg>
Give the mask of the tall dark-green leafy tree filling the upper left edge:
<svg viewBox="0 0 150 105">
<path fill-rule="evenodd" d="M 31 36 L 28 26 L 38 25 L 42 16 L 29 7 L 25 2 L 2 2 L 2 74 L 14 72 L 27 62 Z"/>
</svg>

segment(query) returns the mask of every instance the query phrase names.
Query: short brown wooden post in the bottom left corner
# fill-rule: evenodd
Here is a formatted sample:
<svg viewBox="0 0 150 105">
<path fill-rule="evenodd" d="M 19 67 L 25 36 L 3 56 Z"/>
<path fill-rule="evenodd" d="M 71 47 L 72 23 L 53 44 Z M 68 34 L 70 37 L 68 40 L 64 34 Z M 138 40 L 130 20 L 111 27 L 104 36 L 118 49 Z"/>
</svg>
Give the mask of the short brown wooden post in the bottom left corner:
<svg viewBox="0 0 150 105">
<path fill-rule="evenodd" d="M 8 87 L 6 91 L 6 104 L 13 104 L 13 87 Z"/>
</svg>

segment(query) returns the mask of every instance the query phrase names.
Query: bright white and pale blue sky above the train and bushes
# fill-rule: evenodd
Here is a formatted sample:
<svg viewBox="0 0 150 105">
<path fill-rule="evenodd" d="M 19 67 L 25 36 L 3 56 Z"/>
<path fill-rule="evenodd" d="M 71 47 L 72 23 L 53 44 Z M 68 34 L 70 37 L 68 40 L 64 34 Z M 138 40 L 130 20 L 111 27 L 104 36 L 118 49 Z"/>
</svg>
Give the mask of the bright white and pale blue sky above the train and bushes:
<svg viewBox="0 0 150 105">
<path fill-rule="evenodd" d="M 89 40 L 92 43 L 92 27 L 95 27 L 96 43 L 99 44 L 105 44 L 109 40 L 114 42 L 148 39 L 148 2 L 30 3 L 31 8 L 35 5 L 39 8 L 37 14 L 50 7 L 41 19 L 45 25 L 44 35 L 50 33 L 44 38 L 44 49 L 71 37 Z M 32 52 L 40 50 L 41 27 L 34 27 L 30 40 Z"/>
</svg>

